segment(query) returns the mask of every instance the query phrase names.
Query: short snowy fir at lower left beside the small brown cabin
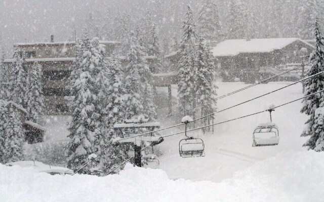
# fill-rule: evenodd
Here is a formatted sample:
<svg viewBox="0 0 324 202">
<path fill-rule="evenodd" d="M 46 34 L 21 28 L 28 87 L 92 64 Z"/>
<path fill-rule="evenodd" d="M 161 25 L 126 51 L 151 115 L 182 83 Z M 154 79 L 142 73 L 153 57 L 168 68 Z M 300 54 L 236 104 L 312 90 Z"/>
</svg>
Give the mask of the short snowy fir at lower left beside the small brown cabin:
<svg viewBox="0 0 324 202">
<path fill-rule="evenodd" d="M 9 109 L 7 132 L 5 139 L 4 163 L 23 160 L 24 134 L 18 112 Z"/>
</svg>

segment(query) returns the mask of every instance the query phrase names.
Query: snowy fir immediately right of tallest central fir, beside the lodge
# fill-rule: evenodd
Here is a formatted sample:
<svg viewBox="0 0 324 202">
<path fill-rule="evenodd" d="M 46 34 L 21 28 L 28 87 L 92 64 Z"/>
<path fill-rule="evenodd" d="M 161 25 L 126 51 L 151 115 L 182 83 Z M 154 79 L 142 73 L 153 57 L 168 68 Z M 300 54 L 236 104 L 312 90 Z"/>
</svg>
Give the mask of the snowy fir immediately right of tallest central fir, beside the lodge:
<svg viewBox="0 0 324 202">
<path fill-rule="evenodd" d="M 197 72 L 195 79 L 195 93 L 197 97 L 197 103 L 203 105 L 201 107 L 201 116 L 211 114 L 216 110 L 216 103 L 210 102 L 217 95 L 217 86 L 215 82 L 215 64 L 213 62 L 213 55 L 211 53 L 211 47 L 207 41 L 203 38 L 199 39 L 197 48 Z M 214 116 L 210 116 L 205 120 L 213 119 Z M 206 125 L 206 124 L 205 124 Z"/>
</svg>

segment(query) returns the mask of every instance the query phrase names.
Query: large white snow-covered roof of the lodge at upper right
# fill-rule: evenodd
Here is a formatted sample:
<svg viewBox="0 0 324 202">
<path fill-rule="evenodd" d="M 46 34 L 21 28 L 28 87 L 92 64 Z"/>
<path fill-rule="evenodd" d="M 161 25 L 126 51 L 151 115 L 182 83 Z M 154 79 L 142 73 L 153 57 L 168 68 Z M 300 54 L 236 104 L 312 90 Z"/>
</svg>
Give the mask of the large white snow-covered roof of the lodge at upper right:
<svg viewBox="0 0 324 202">
<path fill-rule="evenodd" d="M 230 39 L 218 43 L 213 47 L 212 53 L 214 57 L 236 56 L 240 53 L 269 53 L 284 48 L 295 41 L 301 41 L 307 46 L 314 47 L 299 38 Z"/>
</svg>

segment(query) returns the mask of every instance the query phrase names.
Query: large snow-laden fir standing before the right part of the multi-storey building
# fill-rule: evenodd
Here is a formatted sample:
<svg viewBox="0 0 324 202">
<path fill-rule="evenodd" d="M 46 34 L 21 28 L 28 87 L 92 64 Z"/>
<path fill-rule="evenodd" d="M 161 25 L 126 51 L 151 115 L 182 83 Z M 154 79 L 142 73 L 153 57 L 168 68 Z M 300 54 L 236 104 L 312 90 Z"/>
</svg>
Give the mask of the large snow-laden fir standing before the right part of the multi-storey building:
<svg viewBox="0 0 324 202">
<path fill-rule="evenodd" d="M 85 30 L 82 38 L 80 57 L 82 61 L 77 72 L 75 82 L 71 85 L 72 93 L 70 112 L 72 120 L 69 123 L 70 141 L 68 144 L 68 167 L 76 166 L 87 161 L 89 155 L 95 153 L 94 141 L 100 136 L 100 115 L 97 112 L 96 77 L 100 71 L 100 56 L 98 56 L 98 38 L 90 41 Z M 79 74 L 78 74 L 79 73 Z M 80 172 L 87 172 L 86 169 Z"/>
</svg>

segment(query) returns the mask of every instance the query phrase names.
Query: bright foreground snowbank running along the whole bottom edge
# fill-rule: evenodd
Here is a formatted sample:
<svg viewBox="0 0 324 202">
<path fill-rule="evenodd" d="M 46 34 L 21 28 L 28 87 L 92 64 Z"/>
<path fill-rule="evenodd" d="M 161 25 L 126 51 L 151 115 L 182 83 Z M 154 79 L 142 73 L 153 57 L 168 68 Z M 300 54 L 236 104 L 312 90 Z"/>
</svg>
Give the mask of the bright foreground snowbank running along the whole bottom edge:
<svg viewBox="0 0 324 202">
<path fill-rule="evenodd" d="M 0 165 L 2 201 L 322 201 L 324 153 L 284 152 L 214 183 L 126 165 L 119 175 L 51 176 Z M 185 165 L 184 165 L 185 166 Z"/>
</svg>

